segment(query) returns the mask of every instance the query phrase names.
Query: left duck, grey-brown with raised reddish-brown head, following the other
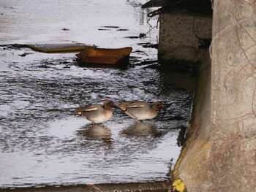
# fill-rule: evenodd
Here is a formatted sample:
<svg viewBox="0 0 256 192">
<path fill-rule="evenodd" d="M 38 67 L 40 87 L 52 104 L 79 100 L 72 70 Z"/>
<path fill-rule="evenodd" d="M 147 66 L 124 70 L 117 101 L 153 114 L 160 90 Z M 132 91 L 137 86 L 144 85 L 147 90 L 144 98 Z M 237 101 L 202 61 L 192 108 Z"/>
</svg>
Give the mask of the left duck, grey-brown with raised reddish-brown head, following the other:
<svg viewBox="0 0 256 192">
<path fill-rule="evenodd" d="M 112 115 L 112 108 L 115 106 L 111 100 L 105 100 L 103 104 L 89 104 L 84 107 L 79 107 L 75 113 L 90 120 L 93 125 L 109 120 Z"/>
</svg>

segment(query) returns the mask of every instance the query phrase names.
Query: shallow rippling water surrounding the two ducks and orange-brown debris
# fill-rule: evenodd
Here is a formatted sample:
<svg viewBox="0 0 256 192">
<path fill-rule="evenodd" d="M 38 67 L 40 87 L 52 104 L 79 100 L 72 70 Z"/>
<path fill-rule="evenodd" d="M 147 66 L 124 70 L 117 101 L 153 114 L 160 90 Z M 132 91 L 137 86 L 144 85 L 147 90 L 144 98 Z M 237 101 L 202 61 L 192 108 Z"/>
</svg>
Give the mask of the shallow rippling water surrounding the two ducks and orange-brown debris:
<svg viewBox="0 0 256 192">
<path fill-rule="evenodd" d="M 74 53 L 0 47 L 0 188 L 167 179 L 180 150 L 178 132 L 190 115 L 193 82 L 159 67 L 157 50 L 142 46 L 157 43 L 157 28 L 145 38 L 127 38 L 151 29 L 150 9 L 140 3 L 0 2 L 1 45 L 133 47 L 129 64 L 111 69 L 78 66 Z M 154 27 L 157 19 L 149 23 Z M 105 99 L 162 101 L 165 109 L 135 124 L 114 108 L 113 118 L 99 126 L 74 113 Z"/>
</svg>

